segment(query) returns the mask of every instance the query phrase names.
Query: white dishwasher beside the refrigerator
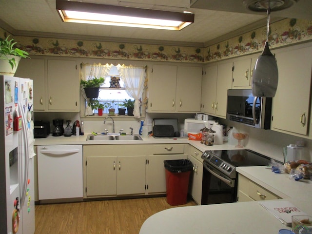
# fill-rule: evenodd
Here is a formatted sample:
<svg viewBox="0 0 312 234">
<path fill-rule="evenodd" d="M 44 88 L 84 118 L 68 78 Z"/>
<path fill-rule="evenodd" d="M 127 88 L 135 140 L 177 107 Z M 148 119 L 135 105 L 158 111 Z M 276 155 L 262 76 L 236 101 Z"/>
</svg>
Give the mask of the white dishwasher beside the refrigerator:
<svg viewBox="0 0 312 234">
<path fill-rule="evenodd" d="M 83 196 L 82 145 L 40 145 L 39 200 Z"/>
</svg>

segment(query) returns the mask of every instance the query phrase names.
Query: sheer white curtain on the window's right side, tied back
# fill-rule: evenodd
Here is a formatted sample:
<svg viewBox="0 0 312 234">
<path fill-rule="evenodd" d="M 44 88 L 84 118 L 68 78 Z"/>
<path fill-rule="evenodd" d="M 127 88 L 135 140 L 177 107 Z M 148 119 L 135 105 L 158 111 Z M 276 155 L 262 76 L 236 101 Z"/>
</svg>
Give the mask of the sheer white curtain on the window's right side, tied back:
<svg viewBox="0 0 312 234">
<path fill-rule="evenodd" d="M 140 118 L 140 101 L 144 89 L 144 80 L 146 78 L 145 67 L 117 65 L 120 78 L 124 82 L 127 94 L 135 99 L 135 108 L 133 114 L 135 118 Z"/>
</svg>

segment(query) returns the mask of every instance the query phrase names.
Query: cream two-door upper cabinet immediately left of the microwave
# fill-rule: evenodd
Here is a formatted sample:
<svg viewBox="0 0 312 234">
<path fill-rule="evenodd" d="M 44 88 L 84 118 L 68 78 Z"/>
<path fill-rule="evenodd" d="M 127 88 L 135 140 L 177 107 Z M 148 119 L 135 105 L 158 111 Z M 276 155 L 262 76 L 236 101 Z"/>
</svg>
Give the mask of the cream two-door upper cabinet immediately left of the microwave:
<svg viewBox="0 0 312 234">
<path fill-rule="evenodd" d="M 203 92 L 207 92 L 202 100 L 204 112 L 215 117 L 226 118 L 227 92 L 232 88 L 232 61 L 218 62 L 206 69 L 205 80 L 207 85 Z"/>
</svg>

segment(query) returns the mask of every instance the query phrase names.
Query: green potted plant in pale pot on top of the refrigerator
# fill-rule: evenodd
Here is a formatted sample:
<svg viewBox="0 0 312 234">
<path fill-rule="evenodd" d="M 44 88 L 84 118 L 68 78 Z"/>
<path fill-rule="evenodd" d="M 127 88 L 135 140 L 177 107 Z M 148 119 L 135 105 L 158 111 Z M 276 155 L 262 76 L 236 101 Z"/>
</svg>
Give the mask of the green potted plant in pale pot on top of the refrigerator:
<svg viewBox="0 0 312 234">
<path fill-rule="evenodd" d="M 29 58 L 28 53 L 14 48 L 17 42 L 14 39 L 0 39 L 0 75 L 13 77 L 21 58 Z"/>
</svg>

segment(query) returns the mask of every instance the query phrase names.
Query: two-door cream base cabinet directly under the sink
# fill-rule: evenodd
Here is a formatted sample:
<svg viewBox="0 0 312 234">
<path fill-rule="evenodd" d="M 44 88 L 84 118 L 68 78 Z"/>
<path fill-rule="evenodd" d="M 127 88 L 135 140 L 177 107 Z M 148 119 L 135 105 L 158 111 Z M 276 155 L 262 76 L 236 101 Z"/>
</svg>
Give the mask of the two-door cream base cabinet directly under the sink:
<svg viewBox="0 0 312 234">
<path fill-rule="evenodd" d="M 144 194 L 146 153 L 137 147 L 84 146 L 84 197 Z"/>
</svg>

